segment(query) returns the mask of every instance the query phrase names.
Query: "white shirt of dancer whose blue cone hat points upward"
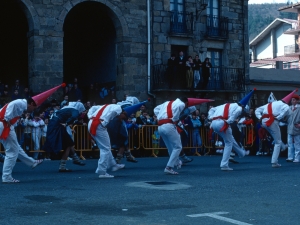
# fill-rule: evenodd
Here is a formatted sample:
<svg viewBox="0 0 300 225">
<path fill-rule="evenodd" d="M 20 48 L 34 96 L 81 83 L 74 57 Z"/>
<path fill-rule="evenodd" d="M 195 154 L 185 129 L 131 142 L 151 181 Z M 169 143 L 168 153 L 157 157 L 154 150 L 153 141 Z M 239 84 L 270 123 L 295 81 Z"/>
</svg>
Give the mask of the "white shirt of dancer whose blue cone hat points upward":
<svg viewBox="0 0 300 225">
<path fill-rule="evenodd" d="M 224 115 L 225 105 L 220 105 L 213 107 L 208 111 L 208 119 L 212 120 L 214 117 L 219 117 Z M 243 108 L 237 103 L 231 103 L 229 106 L 228 119 L 225 120 L 228 124 L 233 123 L 242 113 Z"/>
</svg>

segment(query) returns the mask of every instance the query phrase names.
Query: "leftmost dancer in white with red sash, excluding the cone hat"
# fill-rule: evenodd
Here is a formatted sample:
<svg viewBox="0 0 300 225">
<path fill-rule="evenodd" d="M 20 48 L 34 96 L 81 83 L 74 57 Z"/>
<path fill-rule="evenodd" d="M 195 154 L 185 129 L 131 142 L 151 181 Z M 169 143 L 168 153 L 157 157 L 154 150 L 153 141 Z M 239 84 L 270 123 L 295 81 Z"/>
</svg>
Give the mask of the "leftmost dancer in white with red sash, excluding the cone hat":
<svg viewBox="0 0 300 225">
<path fill-rule="evenodd" d="M 3 183 L 20 182 L 12 177 L 12 170 L 17 158 L 32 168 L 35 168 L 43 162 L 43 160 L 34 160 L 24 152 L 18 143 L 13 127 L 24 110 L 27 109 L 28 112 L 31 112 L 36 107 L 36 103 L 33 99 L 17 99 L 0 109 L 0 143 L 2 143 L 5 148 L 5 161 L 2 171 Z"/>
</svg>

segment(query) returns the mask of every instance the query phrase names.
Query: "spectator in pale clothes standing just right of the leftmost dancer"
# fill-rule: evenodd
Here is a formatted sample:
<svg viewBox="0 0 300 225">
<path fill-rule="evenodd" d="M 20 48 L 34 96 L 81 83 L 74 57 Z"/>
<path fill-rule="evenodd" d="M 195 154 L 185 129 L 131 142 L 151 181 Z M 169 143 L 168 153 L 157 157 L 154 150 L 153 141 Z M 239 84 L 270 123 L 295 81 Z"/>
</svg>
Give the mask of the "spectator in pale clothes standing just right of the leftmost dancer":
<svg viewBox="0 0 300 225">
<path fill-rule="evenodd" d="M 44 121 L 39 117 L 39 112 L 34 112 L 34 118 L 31 122 L 29 122 L 29 125 L 31 126 L 31 138 L 33 142 L 33 150 L 39 151 L 40 148 L 40 142 L 41 142 L 41 136 L 42 136 L 42 129 L 45 126 Z M 35 152 L 33 154 L 34 159 L 38 159 L 39 152 Z"/>
</svg>

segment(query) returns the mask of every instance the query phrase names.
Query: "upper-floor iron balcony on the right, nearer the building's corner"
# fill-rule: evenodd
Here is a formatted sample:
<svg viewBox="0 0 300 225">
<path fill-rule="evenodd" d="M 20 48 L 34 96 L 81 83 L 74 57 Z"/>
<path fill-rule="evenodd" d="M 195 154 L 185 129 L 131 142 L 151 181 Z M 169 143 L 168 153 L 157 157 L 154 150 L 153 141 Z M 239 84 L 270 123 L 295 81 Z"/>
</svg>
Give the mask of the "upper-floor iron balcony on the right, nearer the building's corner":
<svg viewBox="0 0 300 225">
<path fill-rule="evenodd" d="M 205 36 L 213 39 L 228 38 L 228 18 L 222 16 L 206 15 Z"/>
</svg>

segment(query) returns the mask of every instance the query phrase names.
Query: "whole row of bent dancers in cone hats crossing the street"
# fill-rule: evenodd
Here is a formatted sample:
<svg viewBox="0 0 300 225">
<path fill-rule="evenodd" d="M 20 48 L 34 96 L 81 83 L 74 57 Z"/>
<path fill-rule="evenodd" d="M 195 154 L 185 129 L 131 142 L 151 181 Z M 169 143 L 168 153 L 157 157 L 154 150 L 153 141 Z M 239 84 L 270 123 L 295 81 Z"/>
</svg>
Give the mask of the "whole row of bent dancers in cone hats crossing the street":
<svg viewBox="0 0 300 225">
<path fill-rule="evenodd" d="M 24 152 L 18 144 L 13 124 L 16 123 L 24 110 L 32 112 L 60 86 L 52 88 L 27 100 L 19 99 L 12 101 L 0 110 L 0 143 L 2 143 L 5 148 L 5 160 L 2 172 L 3 183 L 20 182 L 12 177 L 12 171 L 17 159 L 20 159 L 32 168 L 35 168 L 43 162 L 41 159 L 34 160 Z M 220 164 L 220 168 L 223 171 L 233 170 L 229 167 L 229 159 L 232 150 L 237 153 L 239 157 L 244 157 L 249 154 L 249 151 L 245 150 L 243 146 L 238 144 L 233 138 L 230 125 L 242 114 L 254 91 L 255 89 L 238 103 L 227 103 L 212 107 L 208 112 L 208 119 L 212 121 L 211 128 L 223 138 L 225 143 L 223 157 Z M 280 149 L 283 146 L 279 129 L 280 121 L 287 121 L 288 119 L 292 121 L 291 128 L 288 129 L 291 130 L 289 134 L 294 140 L 295 147 L 299 147 L 300 145 L 300 138 L 298 138 L 300 137 L 300 113 L 298 113 L 298 111 L 292 112 L 288 106 L 293 96 L 295 97 L 295 92 L 297 92 L 297 90 L 293 91 L 280 101 L 268 103 L 255 110 L 256 117 L 261 120 L 262 127 L 264 127 L 270 135 L 272 135 L 275 142 L 271 161 L 273 168 L 281 166 L 278 163 Z M 158 132 L 163 139 L 170 156 L 164 169 L 164 173 L 177 175 L 178 172 L 174 169 L 180 169 L 182 165 L 182 161 L 180 160 L 182 143 L 177 131 L 179 127 L 178 123 L 182 114 L 186 111 L 186 109 L 192 109 L 195 105 L 211 101 L 213 100 L 181 97 L 174 101 L 166 101 L 154 108 L 154 114 L 158 119 Z M 109 169 L 117 171 L 125 167 L 124 164 L 117 163 L 120 162 L 120 160 L 114 159 L 112 155 L 111 141 L 107 131 L 107 126 L 116 118 L 118 121 L 124 121 L 123 119 L 130 115 L 130 110 L 136 109 L 136 107 L 130 108 L 130 106 L 141 105 L 141 103 L 134 103 L 134 101 L 131 101 L 131 105 L 129 104 L 129 106 L 126 104 L 97 105 L 91 107 L 87 113 L 89 118 L 88 131 L 100 149 L 100 159 L 98 160 L 98 166 L 96 169 L 96 173 L 99 178 L 113 178 L 114 176 L 107 172 Z M 73 158 L 74 164 L 80 166 L 85 165 L 75 152 L 73 147 L 74 140 L 72 138 L 72 131 L 69 126 L 74 123 L 83 111 L 85 111 L 85 107 L 81 102 L 70 102 L 68 106 L 56 111 L 49 121 L 45 150 L 47 152 L 58 153 L 63 149 L 59 172 L 71 171 L 66 167 L 67 158 L 69 156 Z M 120 124 L 122 125 L 122 122 L 120 122 Z M 297 132 L 299 132 L 299 134 Z M 297 135 L 297 138 L 294 138 L 295 135 Z M 124 136 L 126 136 L 126 134 Z M 124 141 L 126 140 L 124 139 Z M 131 156 L 130 150 L 126 148 L 125 143 L 120 146 L 119 153 L 123 154 L 124 151 L 127 154 L 129 152 L 129 156 Z M 136 162 L 132 156 L 128 159 L 130 159 L 129 161 Z"/>
</svg>

